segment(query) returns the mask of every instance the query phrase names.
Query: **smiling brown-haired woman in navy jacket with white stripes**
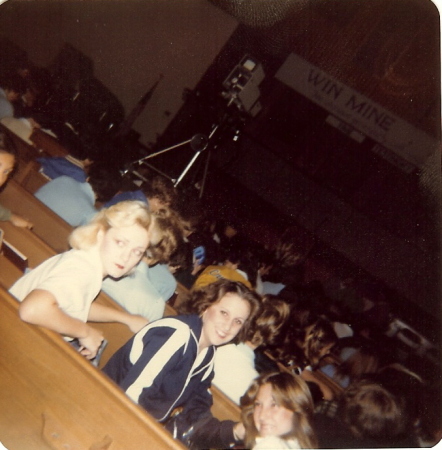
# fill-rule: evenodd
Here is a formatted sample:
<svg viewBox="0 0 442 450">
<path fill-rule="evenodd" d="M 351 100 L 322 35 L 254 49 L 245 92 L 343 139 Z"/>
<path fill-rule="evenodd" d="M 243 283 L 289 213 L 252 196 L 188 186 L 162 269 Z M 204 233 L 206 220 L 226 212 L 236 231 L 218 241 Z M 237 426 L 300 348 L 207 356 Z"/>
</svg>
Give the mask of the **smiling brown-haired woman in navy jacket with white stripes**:
<svg viewBox="0 0 442 450">
<path fill-rule="evenodd" d="M 212 406 L 215 348 L 245 340 L 260 300 L 242 283 L 220 280 L 194 291 L 188 307 L 193 314 L 145 326 L 103 369 L 160 422 L 180 407 L 168 426 L 180 439 Z"/>
</svg>

